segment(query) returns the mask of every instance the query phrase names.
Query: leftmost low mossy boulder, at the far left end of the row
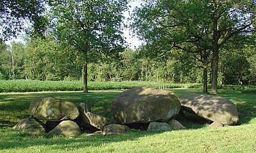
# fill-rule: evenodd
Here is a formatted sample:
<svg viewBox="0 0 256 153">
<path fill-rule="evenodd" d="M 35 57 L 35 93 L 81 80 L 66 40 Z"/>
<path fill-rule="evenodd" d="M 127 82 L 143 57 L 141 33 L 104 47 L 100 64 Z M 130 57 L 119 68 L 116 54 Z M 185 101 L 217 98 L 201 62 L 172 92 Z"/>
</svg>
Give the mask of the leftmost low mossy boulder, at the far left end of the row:
<svg viewBox="0 0 256 153">
<path fill-rule="evenodd" d="M 13 126 L 13 129 L 33 135 L 40 135 L 46 132 L 44 123 L 33 117 L 22 119 L 18 124 Z"/>
</svg>

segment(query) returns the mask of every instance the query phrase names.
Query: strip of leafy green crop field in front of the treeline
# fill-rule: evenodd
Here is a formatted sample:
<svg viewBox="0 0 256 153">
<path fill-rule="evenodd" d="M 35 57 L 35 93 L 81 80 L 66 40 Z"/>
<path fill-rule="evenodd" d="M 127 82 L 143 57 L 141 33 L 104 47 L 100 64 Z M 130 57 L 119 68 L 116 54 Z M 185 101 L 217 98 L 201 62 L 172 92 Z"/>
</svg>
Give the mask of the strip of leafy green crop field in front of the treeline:
<svg viewBox="0 0 256 153">
<path fill-rule="evenodd" d="M 89 91 L 132 89 L 133 87 L 157 87 L 160 89 L 194 88 L 200 84 L 172 84 L 159 82 L 88 82 Z M 0 80 L 0 92 L 38 91 L 83 91 L 81 81 L 39 81 L 39 80 Z"/>
</svg>

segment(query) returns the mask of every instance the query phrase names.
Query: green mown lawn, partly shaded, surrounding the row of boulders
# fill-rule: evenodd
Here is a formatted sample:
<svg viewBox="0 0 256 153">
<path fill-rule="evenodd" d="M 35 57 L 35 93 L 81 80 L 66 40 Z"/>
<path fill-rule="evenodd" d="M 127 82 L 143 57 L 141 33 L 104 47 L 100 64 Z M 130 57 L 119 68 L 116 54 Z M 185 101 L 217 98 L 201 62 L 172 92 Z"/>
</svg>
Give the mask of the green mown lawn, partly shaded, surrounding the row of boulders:
<svg viewBox="0 0 256 153">
<path fill-rule="evenodd" d="M 200 89 L 171 89 L 177 96 L 201 93 Z M 75 138 L 34 136 L 13 131 L 19 120 L 28 117 L 33 98 L 51 96 L 83 102 L 92 110 L 112 118 L 110 104 L 121 91 L 10 92 L 0 93 L 0 152 L 256 152 L 256 94 L 220 90 L 220 96 L 237 105 L 240 120 L 236 126 L 209 129 L 205 125 L 181 121 L 182 131 L 132 131 L 124 135 L 93 135 Z"/>
</svg>

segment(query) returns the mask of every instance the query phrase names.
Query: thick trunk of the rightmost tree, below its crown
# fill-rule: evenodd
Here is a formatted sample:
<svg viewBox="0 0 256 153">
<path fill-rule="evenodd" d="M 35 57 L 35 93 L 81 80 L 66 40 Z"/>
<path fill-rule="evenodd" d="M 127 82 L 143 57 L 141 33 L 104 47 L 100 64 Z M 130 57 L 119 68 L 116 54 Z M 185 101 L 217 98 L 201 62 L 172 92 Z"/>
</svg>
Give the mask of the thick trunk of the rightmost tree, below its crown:
<svg viewBox="0 0 256 153">
<path fill-rule="evenodd" d="M 218 64 L 219 64 L 219 49 L 214 47 L 212 54 L 212 94 L 218 94 Z"/>
</svg>

